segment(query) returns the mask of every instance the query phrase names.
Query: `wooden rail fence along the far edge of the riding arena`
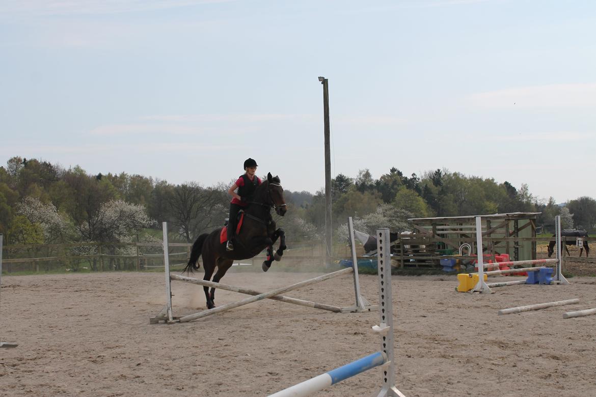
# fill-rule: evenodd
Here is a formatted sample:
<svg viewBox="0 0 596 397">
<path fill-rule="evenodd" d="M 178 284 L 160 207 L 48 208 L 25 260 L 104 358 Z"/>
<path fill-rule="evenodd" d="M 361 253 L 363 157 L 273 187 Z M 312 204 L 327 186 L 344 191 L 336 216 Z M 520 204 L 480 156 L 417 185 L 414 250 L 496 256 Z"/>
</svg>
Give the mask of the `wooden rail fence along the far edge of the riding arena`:
<svg viewBox="0 0 596 397">
<path fill-rule="evenodd" d="M 575 237 L 562 237 L 563 240 L 575 242 Z M 485 252 L 501 251 L 495 245 L 507 242 L 511 246 L 531 244 L 532 258 L 514 258 L 511 260 L 536 259 L 536 251 L 545 252 L 548 242 L 552 237 L 493 237 L 486 238 L 483 243 Z M 585 237 L 584 240 L 593 243 L 596 237 Z M 463 243 L 472 247 L 476 245 L 473 237 L 458 237 L 446 239 L 432 235 L 412 234 L 401 235 L 392 242 L 392 262 L 396 267 L 439 267 L 440 260 L 457 258 L 457 249 Z M 359 257 L 364 254 L 364 249 L 357 243 L 356 252 Z M 169 243 L 169 261 L 172 267 L 185 265 L 190 258 L 190 243 Z M 538 250 L 536 249 L 538 248 Z M 594 248 L 596 249 L 596 248 Z M 474 250 L 475 251 L 475 250 Z M 564 250 L 563 250 L 564 251 Z M 319 241 L 290 243 L 290 248 L 284 252 L 281 264 L 312 265 L 324 267 L 328 262 L 327 249 Z M 467 254 L 467 252 L 465 252 Z M 594 262 L 596 251 L 592 251 L 589 258 L 573 258 L 574 261 Z M 265 252 L 251 260 L 241 261 L 243 264 L 257 264 L 265 258 Z M 461 257 L 459 257 L 461 258 Z M 463 257 L 473 259 L 464 255 Z M 566 260 L 566 257 L 563 257 Z M 346 243 L 337 243 L 333 246 L 333 260 L 351 260 L 350 248 Z M 369 258 L 370 259 L 370 258 Z M 485 256 L 485 261 L 491 260 L 490 255 Z M 492 258 L 495 261 L 495 258 Z M 3 271 L 5 273 L 36 272 L 48 273 L 52 271 L 113 271 L 128 270 L 142 271 L 151 268 L 163 267 L 162 243 L 67 243 L 50 245 L 9 245 L 3 249 Z"/>
</svg>

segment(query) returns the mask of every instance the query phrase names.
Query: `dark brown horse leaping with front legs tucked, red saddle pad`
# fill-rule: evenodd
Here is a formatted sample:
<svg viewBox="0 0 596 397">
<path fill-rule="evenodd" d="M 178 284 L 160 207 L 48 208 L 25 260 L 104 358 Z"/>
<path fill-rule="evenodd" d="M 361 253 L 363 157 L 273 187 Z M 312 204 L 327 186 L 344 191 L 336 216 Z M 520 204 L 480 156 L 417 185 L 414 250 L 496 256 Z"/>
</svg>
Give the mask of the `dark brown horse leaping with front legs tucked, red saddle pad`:
<svg viewBox="0 0 596 397">
<path fill-rule="evenodd" d="M 287 207 L 284 201 L 284 189 L 280 185 L 280 178 L 267 174 L 267 180 L 257 186 L 249 205 L 244 209 L 244 220 L 240 233 L 234 241 L 234 251 L 226 251 L 225 242 L 221 242 L 220 235 L 222 228 L 213 230 L 211 233 L 204 233 L 198 236 L 193 244 L 190 260 L 184 268 L 187 273 L 198 270 L 198 258 L 203 256 L 203 267 L 205 276 L 203 280 L 209 281 L 215 268 L 217 273 L 213 276 L 213 282 L 219 283 L 234 260 L 253 258 L 255 255 L 267 249 L 267 260 L 263 262 L 263 271 L 269 270 L 271 262 L 281 260 L 284 254 L 285 234 L 281 229 L 275 229 L 275 221 L 271 217 L 271 209 L 275 208 L 278 215 L 284 216 Z M 280 239 L 278 250 L 273 252 L 273 245 Z M 183 273 L 184 273 L 183 271 Z M 204 286 L 207 308 L 215 307 L 215 288 Z"/>
</svg>

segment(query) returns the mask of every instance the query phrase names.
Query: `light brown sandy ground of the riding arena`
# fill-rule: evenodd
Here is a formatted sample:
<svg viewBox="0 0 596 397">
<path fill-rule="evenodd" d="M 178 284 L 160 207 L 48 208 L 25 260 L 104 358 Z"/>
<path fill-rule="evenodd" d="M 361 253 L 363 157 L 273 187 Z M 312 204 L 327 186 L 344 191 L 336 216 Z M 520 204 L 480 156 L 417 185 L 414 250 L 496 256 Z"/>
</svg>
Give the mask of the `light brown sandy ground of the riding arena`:
<svg viewBox="0 0 596 397">
<path fill-rule="evenodd" d="M 267 290 L 315 273 L 231 273 Z M 202 277 L 202 274 L 199 273 Z M 501 277 L 509 279 L 510 277 Z M 498 280 L 498 278 L 491 279 Z M 457 293 L 454 276 L 393 276 L 396 379 L 406 396 L 596 396 L 596 279 Z M 377 302 L 377 279 L 361 275 Z M 204 308 L 202 288 L 172 282 L 175 315 Z M 380 349 L 378 312 L 335 314 L 271 300 L 185 324 L 149 324 L 164 304 L 163 273 L 2 277 L 2 396 L 263 396 Z M 352 276 L 288 293 L 353 304 Z M 244 298 L 218 291 L 216 304 Z M 497 315 L 501 308 L 579 298 L 566 307 Z M 319 396 L 378 392 L 381 370 Z"/>
</svg>

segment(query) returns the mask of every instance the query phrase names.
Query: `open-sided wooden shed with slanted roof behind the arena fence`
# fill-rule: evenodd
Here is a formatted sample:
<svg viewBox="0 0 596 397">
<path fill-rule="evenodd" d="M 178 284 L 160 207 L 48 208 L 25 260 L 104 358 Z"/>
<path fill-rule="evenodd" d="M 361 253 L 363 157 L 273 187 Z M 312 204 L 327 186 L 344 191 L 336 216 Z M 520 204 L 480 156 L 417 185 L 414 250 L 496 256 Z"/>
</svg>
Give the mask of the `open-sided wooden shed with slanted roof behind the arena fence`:
<svg viewBox="0 0 596 397">
<path fill-rule="evenodd" d="M 540 212 L 470 215 L 463 217 L 411 218 L 414 233 L 436 241 L 429 254 L 457 254 L 463 243 L 476 244 L 476 217 L 482 217 L 482 238 L 485 252 L 509 254 L 513 261 L 536 259 L 536 218 Z M 429 247 L 430 248 L 430 247 Z M 434 251 L 434 252 L 432 252 Z M 475 251 L 475 248 L 474 248 Z"/>
</svg>

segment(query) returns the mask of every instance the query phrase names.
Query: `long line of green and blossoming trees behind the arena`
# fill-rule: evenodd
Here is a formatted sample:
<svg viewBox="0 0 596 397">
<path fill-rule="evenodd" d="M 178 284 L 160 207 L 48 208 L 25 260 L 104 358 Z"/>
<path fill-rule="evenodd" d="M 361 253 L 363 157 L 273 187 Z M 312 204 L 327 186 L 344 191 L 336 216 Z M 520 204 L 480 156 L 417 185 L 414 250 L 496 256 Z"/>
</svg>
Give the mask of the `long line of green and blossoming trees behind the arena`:
<svg viewBox="0 0 596 397">
<path fill-rule="evenodd" d="M 291 181 L 284 181 L 291 185 Z M 203 186 L 198 182 L 167 183 L 141 175 L 91 175 L 76 167 L 13 157 L 0 167 L 0 233 L 5 243 L 159 241 L 162 221 L 181 242 L 221 227 L 227 217 L 232 182 Z M 275 220 L 294 241 L 318 239 L 324 233 L 325 196 L 285 190 L 287 215 Z M 527 185 L 464 176 L 448 170 L 405 176 L 391 168 L 379 179 L 365 169 L 351 178 L 332 180 L 332 221 L 335 235 L 346 236 L 346 220 L 356 229 L 377 227 L 408 230 L 408 218 L 542 212 L 539 226 L 554 227 L 561 215 L 564 227 L 593 231 L 596 201 L 580 197 L 564 206 L 550 198 L 542 202 Z"/>
</svg>

